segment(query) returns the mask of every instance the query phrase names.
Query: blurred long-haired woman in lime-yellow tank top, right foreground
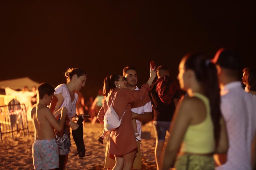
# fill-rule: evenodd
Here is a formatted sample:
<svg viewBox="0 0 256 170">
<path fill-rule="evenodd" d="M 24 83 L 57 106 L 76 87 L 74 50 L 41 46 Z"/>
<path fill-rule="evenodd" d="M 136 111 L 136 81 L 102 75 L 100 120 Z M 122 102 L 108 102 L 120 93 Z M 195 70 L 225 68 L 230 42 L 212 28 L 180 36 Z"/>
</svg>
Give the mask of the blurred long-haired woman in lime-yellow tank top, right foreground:
<svg viewBox="0 0 256 170">
<path fill-rule="evenodd" d="M 179 152 L 176 170 L 213 170 L 213 154 L 228 150 L 216 67 L 200 54 L 188 54 L 179 64 L 177 79 L 189 97 L 176 107 L 162 169 L 174 165 Z"/>
</svg>

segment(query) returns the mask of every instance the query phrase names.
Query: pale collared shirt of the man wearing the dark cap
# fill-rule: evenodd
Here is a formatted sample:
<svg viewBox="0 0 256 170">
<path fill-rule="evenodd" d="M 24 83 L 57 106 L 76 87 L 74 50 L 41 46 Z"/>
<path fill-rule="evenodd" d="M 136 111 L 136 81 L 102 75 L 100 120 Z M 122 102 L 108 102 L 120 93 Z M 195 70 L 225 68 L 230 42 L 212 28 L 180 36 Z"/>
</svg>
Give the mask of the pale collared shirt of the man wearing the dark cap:
<svg viewBox="0 0 256 170">
<path fill-rule="evenodd" d="M 256 99 L 239 81 L 221 90 L 221 112 L 226 121 L 229 149 L 227 162 L 217 170 L 251 170 L 251 144 L 256 129 Z"/>
</svg>

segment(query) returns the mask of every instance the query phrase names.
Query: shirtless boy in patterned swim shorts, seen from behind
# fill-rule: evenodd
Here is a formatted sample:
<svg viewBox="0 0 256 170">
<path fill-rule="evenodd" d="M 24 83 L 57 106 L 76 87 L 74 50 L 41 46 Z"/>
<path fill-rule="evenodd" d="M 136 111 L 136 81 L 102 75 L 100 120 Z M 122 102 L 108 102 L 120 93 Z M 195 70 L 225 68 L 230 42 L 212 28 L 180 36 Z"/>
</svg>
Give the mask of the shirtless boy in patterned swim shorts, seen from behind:
<svg viewBox="0 0 256 170">
<path fill-rule="evenodd" d="M 32 146 L 33 164 L 37 169 L 59 168 L 59 149 L 55 140 L 54 129 L 61 131 L 65 123 L 67 109 L 59 109 L 55 114 L 61 114 L 58 122 L 47 107 L 52 100 L 54 88 L 42 83 L 37 88 L 39 101 L 32 107 L 31 118 L 35 127 L 35 142 Z"/>
</svg>

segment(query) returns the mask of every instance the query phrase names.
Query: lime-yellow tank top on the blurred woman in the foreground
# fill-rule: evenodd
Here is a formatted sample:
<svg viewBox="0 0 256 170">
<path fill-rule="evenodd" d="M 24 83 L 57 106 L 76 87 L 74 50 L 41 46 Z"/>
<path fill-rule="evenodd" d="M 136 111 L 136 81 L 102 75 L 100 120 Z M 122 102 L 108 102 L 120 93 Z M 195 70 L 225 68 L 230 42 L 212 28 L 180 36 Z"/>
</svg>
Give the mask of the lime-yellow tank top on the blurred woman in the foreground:
<svg viewBox="0 0 256 170">
<path fill-rule="evenodd" d="M 197 154 L 212 153 L 215 150 L 215 140 L 214 125 L 210 115 L 210 103 L 208 98 L 202 94 L 195 93 L 194 96 L 205 103 L 207 115 L 203 122 L 188 126 L 180 151 Z"/>
</svg>

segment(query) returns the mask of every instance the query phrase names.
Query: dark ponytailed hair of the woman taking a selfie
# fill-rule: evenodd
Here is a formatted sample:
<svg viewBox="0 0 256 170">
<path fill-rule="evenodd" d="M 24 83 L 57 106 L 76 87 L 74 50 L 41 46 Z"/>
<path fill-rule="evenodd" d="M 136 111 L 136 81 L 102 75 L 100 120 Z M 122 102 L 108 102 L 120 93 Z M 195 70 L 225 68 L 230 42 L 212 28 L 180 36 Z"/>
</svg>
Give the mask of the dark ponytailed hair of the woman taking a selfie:
<svg viewBox="0 0 256 170">
<path fill-rule="evenodd" d="M 104 85 L 103 85 L 103 95 L 108 96 L 108 93 L 110 90 L 113 90 L 115 88 L 115 81 L 119 81 L 120 75 L 119 74 L 112 74 L 110 76 L 107 76 L 104 79 Z"/>
</svg>

